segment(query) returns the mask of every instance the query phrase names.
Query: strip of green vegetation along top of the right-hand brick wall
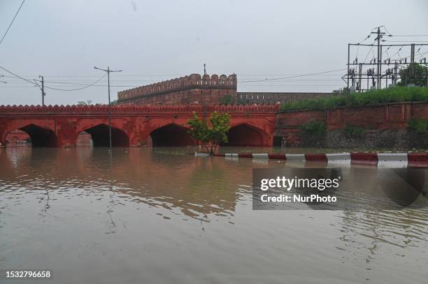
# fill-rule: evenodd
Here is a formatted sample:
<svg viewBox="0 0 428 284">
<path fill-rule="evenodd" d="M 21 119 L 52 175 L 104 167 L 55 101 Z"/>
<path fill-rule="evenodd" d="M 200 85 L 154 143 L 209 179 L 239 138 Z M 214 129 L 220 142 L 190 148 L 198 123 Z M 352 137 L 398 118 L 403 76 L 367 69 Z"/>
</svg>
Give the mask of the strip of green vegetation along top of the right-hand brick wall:
<svg viewBox="0 0 428 284">
<path fill-rule="evenodd" d="M 427 87 L 392 87 L 365 93 L 297 100 L 281 105 L 281 110 L 325 110 L 336 107 L 358 107 L 396 102 L 428 102 Z"/>
</svg>

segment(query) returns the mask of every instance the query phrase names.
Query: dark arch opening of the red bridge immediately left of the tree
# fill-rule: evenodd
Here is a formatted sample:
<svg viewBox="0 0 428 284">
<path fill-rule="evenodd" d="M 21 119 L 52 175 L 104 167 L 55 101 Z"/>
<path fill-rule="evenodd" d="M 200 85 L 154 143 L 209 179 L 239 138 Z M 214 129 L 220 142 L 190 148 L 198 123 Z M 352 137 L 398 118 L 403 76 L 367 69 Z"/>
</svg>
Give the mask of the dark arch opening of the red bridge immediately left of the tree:
<svg viewBox="0 0 428 284">
<path fill-rule="evenodd" d="M 174 123 L 152 130 L 149 136 L 153 147 L 182 147 L 196 144 L 190 134 L 187 133 L 185 126 Z"/>
</svg>

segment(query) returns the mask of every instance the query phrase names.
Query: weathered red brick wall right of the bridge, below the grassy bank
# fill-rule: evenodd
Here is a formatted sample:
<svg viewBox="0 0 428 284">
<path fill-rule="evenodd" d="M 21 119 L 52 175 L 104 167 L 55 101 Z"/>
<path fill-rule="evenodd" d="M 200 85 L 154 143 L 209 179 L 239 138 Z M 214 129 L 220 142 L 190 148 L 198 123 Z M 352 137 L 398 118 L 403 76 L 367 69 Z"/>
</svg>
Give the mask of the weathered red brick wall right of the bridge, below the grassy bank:
<svg viewBox="0 0 428 284">
<path fill-rule="evenodd" d="M 308 121 L 324 121 L 328 130 L 345 124 L 371 129 L 404 129 L 410 119 L 428 119 L 428 103 L 389 103 L 371 107 L 341 107 L 336 110 L 281 112 L 275 135 L 283 136 L 287 146 L 300 146 L 300 126 Z"/>
</svg>

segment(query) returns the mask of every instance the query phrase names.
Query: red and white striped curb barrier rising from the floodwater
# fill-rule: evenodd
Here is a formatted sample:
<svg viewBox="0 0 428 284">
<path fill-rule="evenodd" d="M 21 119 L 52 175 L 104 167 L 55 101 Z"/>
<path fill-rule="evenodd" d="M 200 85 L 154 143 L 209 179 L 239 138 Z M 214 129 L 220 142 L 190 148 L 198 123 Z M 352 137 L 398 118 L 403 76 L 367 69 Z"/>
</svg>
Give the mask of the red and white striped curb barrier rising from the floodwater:
<svg viewBox="0 0 428 284">
<path fill-rule="evenodd" d="M 428 167 L 428 153 L 224 153 L 214 154 L 229 158 L 289 160 L 293 162 L 349 163 L 378 167 Z"/>
</svg>

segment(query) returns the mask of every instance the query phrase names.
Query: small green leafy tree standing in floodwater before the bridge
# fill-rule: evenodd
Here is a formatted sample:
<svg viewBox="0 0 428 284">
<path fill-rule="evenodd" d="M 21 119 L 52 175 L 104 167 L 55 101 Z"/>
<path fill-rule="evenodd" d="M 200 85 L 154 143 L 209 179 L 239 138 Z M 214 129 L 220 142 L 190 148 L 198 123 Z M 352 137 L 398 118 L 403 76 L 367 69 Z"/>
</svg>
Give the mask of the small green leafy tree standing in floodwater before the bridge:
<svg viewBox="0 0 428 284">
<path fill-rule="evenodd" d="M 227 143 L 230 117 L 226 112 L 211 113 L 209 124 L 193 112 L 193 118 L 187 121 L 187 125 L 190 126 L 188 133 L 194 140 L 202 142 L 210 155 L 215 153 L 218 145 Z"/>
</svg>

